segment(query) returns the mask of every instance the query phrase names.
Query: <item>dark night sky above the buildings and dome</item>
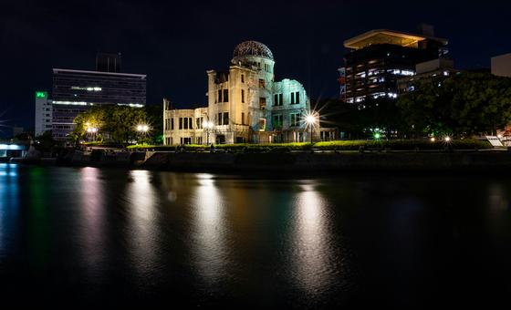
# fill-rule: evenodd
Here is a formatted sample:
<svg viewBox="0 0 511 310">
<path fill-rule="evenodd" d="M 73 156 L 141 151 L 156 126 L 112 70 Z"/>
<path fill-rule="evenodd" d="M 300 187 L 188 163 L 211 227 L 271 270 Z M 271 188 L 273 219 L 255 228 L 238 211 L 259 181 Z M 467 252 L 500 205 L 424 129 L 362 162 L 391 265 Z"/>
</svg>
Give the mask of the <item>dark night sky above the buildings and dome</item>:
<svg viewBox="0 0 511 310">
<path fill-rule="evenodd" d="M 3 0 L 0 124 L 33 127 L 34 91 L 51 90 L 51 68 L 93 69 L 97 51 L 119 51 L 122 71 L 148 75 L 149 104 L 192 107 L 205 101 L 205 71 L 226 69 L 236 44 L 255 39 L 273 51 L 277 79 L 327 98 L 350 36 L 427 23 L 449 39 L 456 67 L 489 67 L 511 52 L 510 11 L 506 1 Z"/>
</svg>

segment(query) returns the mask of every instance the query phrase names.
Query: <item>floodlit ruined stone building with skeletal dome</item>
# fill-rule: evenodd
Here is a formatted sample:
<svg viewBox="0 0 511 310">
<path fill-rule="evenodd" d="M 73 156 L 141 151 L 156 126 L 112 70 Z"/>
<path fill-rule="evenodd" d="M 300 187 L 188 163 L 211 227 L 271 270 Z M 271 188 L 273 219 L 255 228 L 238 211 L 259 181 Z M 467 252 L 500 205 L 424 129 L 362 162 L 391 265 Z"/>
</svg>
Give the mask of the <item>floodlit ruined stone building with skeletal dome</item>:
<svg viewBox="0 0 511 310">
<path fill-rule="evenodd" d="M 207 107 L 172 109 L 165 101 L 164 143 L 309 140 L 303 121 L 310 111 L 307 92 L 297 80 L 275 81 L 274 67 L 273 54 L 264 44 L 239 44 L 227 71 L 207 71 Z M 205 126 L 208 123 L 211 128 Z M 319 132 L 316 129 L 314 134 Z"/>
</svg>

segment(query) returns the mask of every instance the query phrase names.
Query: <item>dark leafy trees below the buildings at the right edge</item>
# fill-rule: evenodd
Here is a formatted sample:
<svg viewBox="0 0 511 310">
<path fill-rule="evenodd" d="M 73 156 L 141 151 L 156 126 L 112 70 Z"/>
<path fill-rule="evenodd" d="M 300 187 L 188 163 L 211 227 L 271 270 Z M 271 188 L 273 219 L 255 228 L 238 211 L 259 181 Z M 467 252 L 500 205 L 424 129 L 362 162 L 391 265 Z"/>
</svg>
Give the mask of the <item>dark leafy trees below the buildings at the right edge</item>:
<svg viewBox="0 0 511 310">
<path fill-rule="evenodd" d="M 511 78 L 463 73 L 422 79 L 398 99 L 401 118 L 422 134 L 466 137 L 493 133 L 511 122 Z"/>
</svg>

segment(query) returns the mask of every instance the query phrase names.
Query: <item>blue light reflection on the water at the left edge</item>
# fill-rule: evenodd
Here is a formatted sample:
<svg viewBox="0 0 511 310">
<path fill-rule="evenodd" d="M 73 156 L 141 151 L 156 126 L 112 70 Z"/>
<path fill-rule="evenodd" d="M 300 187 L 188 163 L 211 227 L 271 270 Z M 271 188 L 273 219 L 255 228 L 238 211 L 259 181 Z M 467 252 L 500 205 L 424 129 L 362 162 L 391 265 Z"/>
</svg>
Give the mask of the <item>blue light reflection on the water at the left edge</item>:
<svg viewBox="0 0 511 310">
<path fill-rule="evenodd" d="M 0 163 L 0 261 L 16 237 L 14 230 L 19 203 L 17 170 L 16 164 Z"/>
</svg>

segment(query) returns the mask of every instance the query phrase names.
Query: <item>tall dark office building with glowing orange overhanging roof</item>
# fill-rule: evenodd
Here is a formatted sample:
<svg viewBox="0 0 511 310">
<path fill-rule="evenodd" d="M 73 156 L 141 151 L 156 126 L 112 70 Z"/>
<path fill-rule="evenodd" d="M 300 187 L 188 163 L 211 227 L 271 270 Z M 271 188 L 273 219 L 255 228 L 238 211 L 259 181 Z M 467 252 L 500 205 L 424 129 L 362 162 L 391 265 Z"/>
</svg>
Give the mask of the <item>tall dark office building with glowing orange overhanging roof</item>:
<svg viewBox="0 0 511 310">
<path fill-rule="evenodd" d="M 367 98 L 397 98 L 397 81 L 416 73 L 416 65 L 447 54 L 447 40 L 433 36 L 433 27 L 423 35 L 378 29 L 344 42 L 349 52 L 339 69 L 341 98 L 364 108 Z"/>
</svg>

